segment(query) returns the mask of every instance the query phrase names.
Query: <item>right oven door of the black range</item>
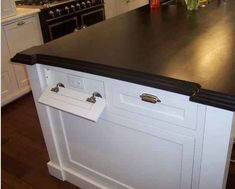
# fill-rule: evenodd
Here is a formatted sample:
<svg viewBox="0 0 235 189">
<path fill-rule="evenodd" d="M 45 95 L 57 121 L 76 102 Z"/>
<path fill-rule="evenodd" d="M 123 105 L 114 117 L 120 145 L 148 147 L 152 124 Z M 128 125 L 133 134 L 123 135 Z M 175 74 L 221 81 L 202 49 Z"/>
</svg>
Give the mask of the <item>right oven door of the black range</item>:
<svg viewBox="0 0 235 189">
<path fill-rule="evenodd" d="M 81 14 L 82 28 L 105 20 L 104 8 L 95 9 Z"/>
</svg>

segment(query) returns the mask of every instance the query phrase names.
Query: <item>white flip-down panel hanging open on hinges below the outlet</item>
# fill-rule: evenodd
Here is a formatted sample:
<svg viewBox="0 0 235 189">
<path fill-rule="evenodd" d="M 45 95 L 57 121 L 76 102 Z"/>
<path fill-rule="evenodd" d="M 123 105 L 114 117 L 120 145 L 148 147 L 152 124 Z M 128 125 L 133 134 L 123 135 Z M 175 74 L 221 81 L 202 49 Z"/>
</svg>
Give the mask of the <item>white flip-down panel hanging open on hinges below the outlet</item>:
<svg viewBox="0 0 235 189">
<path fill-rule="evenodd" d="M 47 87 L 39 98 L 39 102 L 64 112 L 80 116 L 97 122 L 105 107 L 105 100 L 95 97 L 96 102 L 88 102 L 92 94 L 81 93 L 71 89 L 58 87 L 58 92 L 53 92 L 55 85 Z"/>
</svg>

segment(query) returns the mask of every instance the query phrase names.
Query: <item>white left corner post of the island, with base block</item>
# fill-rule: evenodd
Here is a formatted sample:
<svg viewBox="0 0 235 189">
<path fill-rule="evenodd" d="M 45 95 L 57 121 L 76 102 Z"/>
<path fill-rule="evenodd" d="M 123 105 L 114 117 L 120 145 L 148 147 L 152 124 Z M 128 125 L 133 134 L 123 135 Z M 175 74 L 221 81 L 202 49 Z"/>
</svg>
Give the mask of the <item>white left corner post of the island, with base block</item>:
<svg viewBox="0 0 235 189">
<path fill-rule="evenodd" d="M 58 140 L 55 133 L 55 120 L 52 120 L 49 115 L 53 110 L 47 106 L 37 103 L 42 92 L 47 88 L 46 74 L 39 65 L 27 66 L 27 70 L 43 137 L 45 139 L 48 155 L 50 158 L 50 162 L 47 163 L 48 170 L 50 174 L 56 178 L 65 180 L 60 157 L 60 149 L 58 147 Z"/>
</svg>

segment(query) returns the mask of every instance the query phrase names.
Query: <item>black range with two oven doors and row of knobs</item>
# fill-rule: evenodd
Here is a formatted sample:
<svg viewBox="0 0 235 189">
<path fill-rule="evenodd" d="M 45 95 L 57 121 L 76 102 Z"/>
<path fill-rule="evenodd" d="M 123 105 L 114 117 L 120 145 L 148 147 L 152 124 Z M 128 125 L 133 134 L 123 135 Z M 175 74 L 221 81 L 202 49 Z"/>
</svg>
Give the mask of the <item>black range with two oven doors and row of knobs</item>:
<svg viewBox="0 0 235 189">
<path fill-rule="evenodd" d="M 104 0 L 22 0 L 16 5 L 41 9 L 44 42 L 105 20 Z"/>
</svg>

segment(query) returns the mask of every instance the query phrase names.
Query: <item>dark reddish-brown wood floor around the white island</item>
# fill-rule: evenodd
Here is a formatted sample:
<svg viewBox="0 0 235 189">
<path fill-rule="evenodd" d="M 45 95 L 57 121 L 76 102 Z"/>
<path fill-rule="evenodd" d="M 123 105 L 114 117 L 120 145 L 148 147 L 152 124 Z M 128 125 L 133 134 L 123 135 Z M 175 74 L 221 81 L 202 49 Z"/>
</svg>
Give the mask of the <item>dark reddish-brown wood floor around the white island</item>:
<svg viewBox="0 0 235 189">
<path fill-rule="evenodd" d="M 49 158 L 31 94 L 2 108 L 2 189 L 78 189 L 49 175 Z M 233 150 L 235 159 L 235 150 Z M 235 188 L 235 163 L 227 189 Z"/>
</svg>

